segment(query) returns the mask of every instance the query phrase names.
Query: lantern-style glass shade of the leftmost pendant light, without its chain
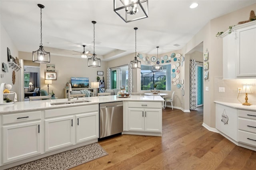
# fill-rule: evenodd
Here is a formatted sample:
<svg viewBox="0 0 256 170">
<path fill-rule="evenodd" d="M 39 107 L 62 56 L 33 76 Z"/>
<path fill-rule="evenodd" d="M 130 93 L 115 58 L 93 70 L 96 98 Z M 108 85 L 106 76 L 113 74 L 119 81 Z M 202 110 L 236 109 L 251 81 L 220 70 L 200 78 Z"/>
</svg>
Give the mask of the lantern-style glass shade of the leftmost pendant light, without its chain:
<svg viewBox="0 0 256 170">
<path fill-rule="evenodd" d="M 46 52 L 43 46 L 39 46 L 37 51 L 33 51 L 32 61 L 39 63 L 49 63 L 50 62 L 50 52 Z"/>
</svg>

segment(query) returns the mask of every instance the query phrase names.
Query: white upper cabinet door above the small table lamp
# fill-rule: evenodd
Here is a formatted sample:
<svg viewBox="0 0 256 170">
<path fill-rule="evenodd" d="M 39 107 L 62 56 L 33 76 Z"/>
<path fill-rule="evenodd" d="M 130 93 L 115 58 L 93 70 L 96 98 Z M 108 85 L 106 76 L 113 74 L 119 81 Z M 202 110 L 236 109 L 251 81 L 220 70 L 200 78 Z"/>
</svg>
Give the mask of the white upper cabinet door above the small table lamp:
<svg viewBox="0 0 256 170">
<path fill-rule="evenodd" d="M 256 24 L 237 30 L 237 77 L 256 76 Z"/>
</svg>

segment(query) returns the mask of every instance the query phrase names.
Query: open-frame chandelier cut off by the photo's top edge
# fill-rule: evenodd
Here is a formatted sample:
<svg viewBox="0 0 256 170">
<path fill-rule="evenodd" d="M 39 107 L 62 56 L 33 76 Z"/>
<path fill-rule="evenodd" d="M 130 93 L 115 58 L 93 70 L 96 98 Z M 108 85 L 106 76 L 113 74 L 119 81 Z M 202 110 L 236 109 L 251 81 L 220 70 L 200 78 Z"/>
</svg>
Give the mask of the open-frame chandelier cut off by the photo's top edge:
<svg viewBox="0 0 256 170">
<path fill-rule="evenodd" d="M 114 12 L 126 23 L 148 18 L 148 0 L 114 0 Z"/>
</svg>

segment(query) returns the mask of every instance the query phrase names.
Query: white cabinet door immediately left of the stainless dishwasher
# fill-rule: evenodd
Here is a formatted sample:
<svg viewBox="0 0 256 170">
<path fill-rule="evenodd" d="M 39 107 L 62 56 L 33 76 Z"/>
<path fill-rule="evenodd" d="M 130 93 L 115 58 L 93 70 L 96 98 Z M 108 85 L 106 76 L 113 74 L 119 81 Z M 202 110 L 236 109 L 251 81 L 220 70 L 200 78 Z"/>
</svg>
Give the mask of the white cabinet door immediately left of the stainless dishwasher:
<svg viewBox="0 0 256 170">
<path fill-rule="evenodd" d="M 99 137 L 98 112 L 76 115 L 76 143 Z"/>
</svg>

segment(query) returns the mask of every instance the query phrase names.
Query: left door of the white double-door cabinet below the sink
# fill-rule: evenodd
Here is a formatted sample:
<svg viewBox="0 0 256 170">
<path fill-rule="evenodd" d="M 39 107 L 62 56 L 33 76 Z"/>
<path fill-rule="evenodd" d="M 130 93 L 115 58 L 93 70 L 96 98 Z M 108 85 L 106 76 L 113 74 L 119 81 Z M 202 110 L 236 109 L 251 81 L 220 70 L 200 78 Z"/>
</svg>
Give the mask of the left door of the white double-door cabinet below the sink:
<svg viewBox="0 0 256 170">
<path fill-rule="evenodd" d="M 63 116 L 44 120 L 44 150 L 56 150 L 75 143 L 74 116 Z"/>
</svg>

